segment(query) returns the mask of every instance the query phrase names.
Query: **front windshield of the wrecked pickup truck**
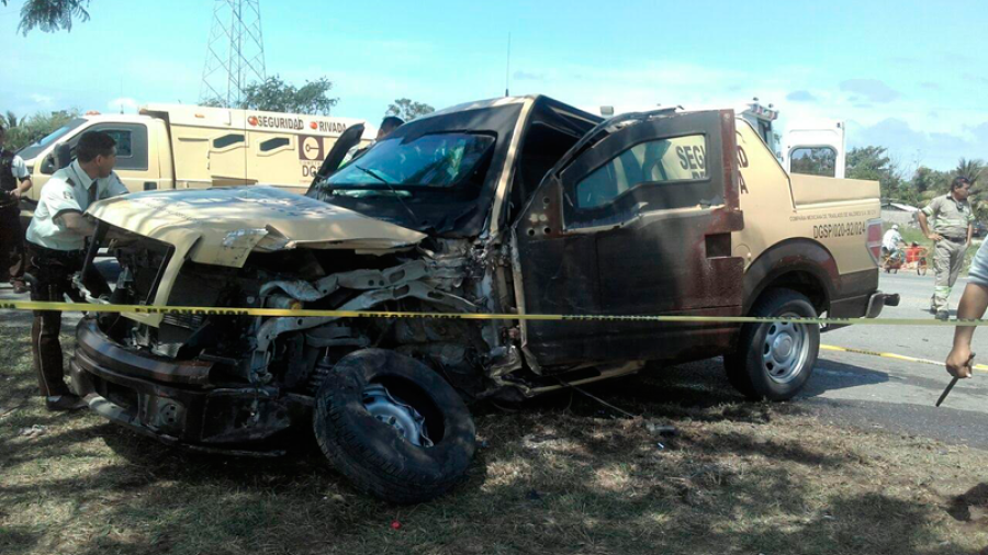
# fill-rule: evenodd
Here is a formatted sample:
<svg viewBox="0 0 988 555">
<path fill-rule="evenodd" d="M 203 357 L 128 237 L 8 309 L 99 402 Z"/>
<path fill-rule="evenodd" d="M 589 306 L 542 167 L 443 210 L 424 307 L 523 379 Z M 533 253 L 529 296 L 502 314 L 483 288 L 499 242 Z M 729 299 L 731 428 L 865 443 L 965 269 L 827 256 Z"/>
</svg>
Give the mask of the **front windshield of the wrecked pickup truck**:
<svg viewBox="0 0 988 555">
<path fill-rule="evenodd" d="M 468 181 L 493 147 L 492 135 L 472 133 L 385 139 L 318 186 L 344 196 L 372 191 L 412 196 L 416 191 L 450 189 Z"/>
</svg>

